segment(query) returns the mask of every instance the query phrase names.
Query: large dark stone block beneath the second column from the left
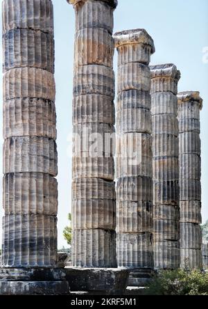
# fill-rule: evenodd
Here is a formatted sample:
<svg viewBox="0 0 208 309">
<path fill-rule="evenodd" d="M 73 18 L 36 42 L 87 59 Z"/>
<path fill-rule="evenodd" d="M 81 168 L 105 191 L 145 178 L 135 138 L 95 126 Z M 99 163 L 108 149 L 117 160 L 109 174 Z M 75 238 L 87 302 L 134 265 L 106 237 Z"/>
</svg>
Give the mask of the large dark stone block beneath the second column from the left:
<svg viewBox="0 0 208 309">
<path fill-rule="evenodd" d="M 88 292 L 89 295 L 123 295 L 128 285 L 130 271 L 104 268 L 66 267 L 70 291 Z"/>
</svg>

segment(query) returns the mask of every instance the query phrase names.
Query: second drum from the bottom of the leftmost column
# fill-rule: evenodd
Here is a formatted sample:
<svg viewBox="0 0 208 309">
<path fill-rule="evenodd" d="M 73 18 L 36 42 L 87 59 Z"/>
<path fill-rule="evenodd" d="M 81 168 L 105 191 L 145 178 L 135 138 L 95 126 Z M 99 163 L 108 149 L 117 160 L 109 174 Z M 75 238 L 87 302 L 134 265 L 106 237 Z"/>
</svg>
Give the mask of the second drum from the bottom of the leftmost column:
<svg viewBox="0 0 208 309">
<path fill-rule="evenodd" d="M 58 183 L 47 173 L 9 173 L 3 176 L 5 214 L 46 214 L 58 211 Z"/>
</svg>

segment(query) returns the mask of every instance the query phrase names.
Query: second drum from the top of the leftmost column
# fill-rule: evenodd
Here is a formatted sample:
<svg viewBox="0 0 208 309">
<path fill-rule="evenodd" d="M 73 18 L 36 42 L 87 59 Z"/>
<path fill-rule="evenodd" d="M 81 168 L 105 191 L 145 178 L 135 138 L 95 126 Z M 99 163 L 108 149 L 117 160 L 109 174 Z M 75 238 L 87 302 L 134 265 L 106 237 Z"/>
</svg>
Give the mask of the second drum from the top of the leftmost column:
<svg viewBox="0 0 208 309">
<path fill-rule="evenodd" d="M 54 73 L 53 35 L 30 29 L 14 29 L 3 34 L 3 72 L 33 67 Z"/>
</svg>

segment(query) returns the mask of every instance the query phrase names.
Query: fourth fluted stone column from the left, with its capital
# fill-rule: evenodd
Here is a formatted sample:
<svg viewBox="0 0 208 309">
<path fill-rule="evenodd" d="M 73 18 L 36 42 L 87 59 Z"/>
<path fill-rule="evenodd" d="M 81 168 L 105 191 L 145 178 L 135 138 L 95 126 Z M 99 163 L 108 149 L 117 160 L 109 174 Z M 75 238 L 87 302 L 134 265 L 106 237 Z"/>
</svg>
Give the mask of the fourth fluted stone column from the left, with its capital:
<svg viewBox="0 0 208 309">
<path fill-rule="evenodd" d="M 155 269 L 180 267 L 177 83 L 173 64 L 151 70 Z"/>
</svg>

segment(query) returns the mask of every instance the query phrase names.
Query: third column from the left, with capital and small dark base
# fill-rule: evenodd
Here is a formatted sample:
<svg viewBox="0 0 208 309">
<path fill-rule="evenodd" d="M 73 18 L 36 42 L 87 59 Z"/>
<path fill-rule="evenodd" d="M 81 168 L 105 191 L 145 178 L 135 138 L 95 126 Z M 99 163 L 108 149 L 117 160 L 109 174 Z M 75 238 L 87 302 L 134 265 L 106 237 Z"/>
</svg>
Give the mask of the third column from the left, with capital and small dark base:
<svg viewBox="0 0 208 309">
<path fill-rule="evenodd" d="M 117 260 L 142 285 L 153 269 L 150 55 L 144 29 L 114 35 L 119 53 L 116 108 Z"/>
</svg>

